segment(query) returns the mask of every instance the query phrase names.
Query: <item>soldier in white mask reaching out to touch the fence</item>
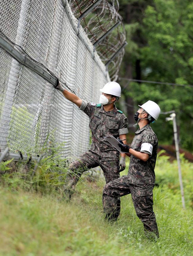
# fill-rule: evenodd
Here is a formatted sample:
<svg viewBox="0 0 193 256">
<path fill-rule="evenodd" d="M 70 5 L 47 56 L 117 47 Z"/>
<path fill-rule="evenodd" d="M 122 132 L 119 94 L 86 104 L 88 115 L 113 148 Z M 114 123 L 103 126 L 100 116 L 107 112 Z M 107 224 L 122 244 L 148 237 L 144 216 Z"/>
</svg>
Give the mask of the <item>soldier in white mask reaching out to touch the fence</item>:
<svg viewBox="0 0 193 256">
<path fill-rule="evenodd" d="M 65 193 L 70 198 L 79 177 L 90 168 L 100 166 L 106 183 L 120 177 L 119 172 L 125 169 L 125 154 L 121 154 L 121 160 L 119 160 L 120 152 L 108 141 L 105 141 L 103 136 L 120 137 L 126 143 L 128 119 L 114 105 L 121 93 L 120 85 L 116 82 L 109 82 L 101 89 L 103 95 L 100 97 L 100 104 L 81 100 L 75 94 L 64 89 L 60 83 L 56 88 L 61 90 L 67 99 L 75 103 L 80 110 L 88 115 L 89 127 L 92 132 L 90 150 L 81 154 L 78 160 L 70 164 L 70 171 L 65 184 Z M 117 200 L 120 203 L 120 199 Z"/>
</svg>

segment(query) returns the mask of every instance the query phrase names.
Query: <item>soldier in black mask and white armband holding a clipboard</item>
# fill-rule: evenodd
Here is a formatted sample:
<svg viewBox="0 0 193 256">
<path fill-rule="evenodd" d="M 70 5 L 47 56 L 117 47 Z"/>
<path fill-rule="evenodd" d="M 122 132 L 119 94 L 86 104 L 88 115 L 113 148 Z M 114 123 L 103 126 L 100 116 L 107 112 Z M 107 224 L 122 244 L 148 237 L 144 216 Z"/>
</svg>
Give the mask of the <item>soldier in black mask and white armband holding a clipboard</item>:
<svg viewBox="0 0 193 256">
<path fill-rule="evenodd" d="M 153 187 L 155 184 L 155 164 L 158 140 L 150 127 L 150 122 L 157 120 L 159 106 L 148 101 L 135 114 L 139 129 L 128 145 L 120 146 L 122 152 L 131 155 L 127 176 L 107 183 L 103 189 L 103 209 L 109 219 L 116 220 L 120 213 L 117 198 L 131 193 L 136 214 L 146 232 L 154 232 L 159 238 L 156 217 L 153 212 Z"/>
</svg>

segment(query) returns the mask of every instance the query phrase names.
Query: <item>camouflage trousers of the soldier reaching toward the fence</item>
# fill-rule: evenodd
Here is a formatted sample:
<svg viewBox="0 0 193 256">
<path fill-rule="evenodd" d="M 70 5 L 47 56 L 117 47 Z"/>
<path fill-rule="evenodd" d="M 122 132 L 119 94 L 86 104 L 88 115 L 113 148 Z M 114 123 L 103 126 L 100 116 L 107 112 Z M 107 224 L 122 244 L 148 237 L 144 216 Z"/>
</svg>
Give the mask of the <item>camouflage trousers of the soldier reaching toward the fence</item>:
<svg viewBox="0 0 193 256">
<path fill-rule="evenodd" d="M 88 151 L 81 154 L 78 160 L 75 160 L 70 164 L 69 172 L 65 180 L 65 194 L 70 198 L 74 193 L 81 174 L 84 171 L 97 166 L 100 166 L 103 170 L 106 183 L 120 177 L 119 158 L 112 159 L 112 156 L 100 157 L 97 154 Z M 117 202 L 120 202 L 120 198 L 117 199 Z"/>
</svg>

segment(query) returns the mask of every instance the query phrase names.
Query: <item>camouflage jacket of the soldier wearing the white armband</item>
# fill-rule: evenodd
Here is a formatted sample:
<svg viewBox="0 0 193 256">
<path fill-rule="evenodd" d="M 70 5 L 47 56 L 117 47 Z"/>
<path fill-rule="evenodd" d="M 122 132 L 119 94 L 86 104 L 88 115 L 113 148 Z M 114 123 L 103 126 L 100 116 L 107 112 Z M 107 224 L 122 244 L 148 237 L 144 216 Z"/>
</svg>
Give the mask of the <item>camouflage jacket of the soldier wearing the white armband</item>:
<svg viewBox="0 0 193 256">
<path fill-rule="evenodd" d="M 152 156 L 144 162 L 133 155 L 130 158 L 128 182 L 131 184 L 155 184 L 158 139 L 149 124 L 135 132 L 135 137 L 131 143 L 131 148 L 140 152 L 141 145 L 149 143 L 153 146 Z"/>
</svg>

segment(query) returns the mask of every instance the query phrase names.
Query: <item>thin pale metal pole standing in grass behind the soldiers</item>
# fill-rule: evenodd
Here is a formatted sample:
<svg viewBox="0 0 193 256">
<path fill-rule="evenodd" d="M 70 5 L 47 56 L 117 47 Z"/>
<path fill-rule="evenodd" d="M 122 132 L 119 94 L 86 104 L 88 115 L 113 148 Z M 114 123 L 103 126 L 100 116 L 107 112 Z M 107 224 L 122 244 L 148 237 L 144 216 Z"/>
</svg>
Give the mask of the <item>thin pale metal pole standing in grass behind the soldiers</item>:
<svg viewBox="0 0 193 256">
<path fill-rule="evenodd" d="M 181 198 L 182 198 L 182 206 L 184 209 L 185 207 L 185 200 L 184 200 L 184 192 L 183 192 L 183 183 L 182 183 L 182 173 L 181 173 L 181 165 L 180 165 L 180 154 L 179 154 L 179 143 L 178 143 L 178 132 L 177 132 L 177 125 L 176 125 L 176 115 L 175 113 L 172 113 L 170 117 L 166 118 L 166 121 L 173 121 L 173 129 L 174 129 L 174 141 L 175 141 L 175 152 L 176 152 L 176 158 L 178 162 L 178 176 L 180 181 L 180 190 L 181 190 Z"/>
</svg>

